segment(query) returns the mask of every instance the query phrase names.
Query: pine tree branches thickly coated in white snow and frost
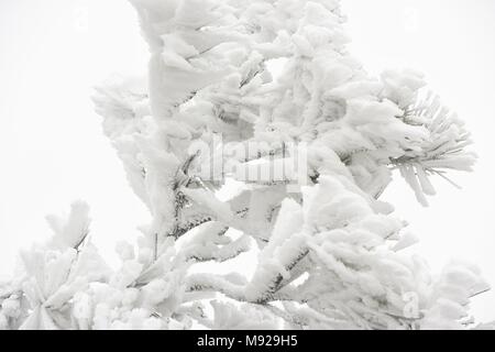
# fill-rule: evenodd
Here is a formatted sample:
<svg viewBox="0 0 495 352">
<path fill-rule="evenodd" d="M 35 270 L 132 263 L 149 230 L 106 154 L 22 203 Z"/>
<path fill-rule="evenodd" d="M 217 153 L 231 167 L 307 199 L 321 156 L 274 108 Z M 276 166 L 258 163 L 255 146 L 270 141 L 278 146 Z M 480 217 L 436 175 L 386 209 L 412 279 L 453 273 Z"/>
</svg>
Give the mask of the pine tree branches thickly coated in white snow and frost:
<svg viewBox="0 0 495 352">
<path fill-rule="evenodd" d="M 338 0 L 131 2 L 147 74 L 94 100 L 153 220 L 118 244 L 116 271 L 90 242 L 87 205 L 48 218 L 51 241 L 0 284 L 0 328 L 475 327 L 477 268 L 431 274 L 380 200 L 397 169 L 426 206 L 432 176 L 475 161 L 420 74 L 370 76 Z M 232 265 L 253 251 L 249 271 Z"/>
</svg>

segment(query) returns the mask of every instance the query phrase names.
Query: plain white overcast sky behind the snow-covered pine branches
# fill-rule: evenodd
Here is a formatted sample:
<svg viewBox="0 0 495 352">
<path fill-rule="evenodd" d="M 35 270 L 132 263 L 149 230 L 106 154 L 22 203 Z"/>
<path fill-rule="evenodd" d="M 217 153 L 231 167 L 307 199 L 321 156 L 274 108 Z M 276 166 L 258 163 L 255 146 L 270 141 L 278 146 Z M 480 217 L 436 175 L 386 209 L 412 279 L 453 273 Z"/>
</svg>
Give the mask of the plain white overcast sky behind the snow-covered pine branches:
<svg viewBox="0 0 495 352">
<path fill-rule="evenodd" d="M 415 252 L 440 270 L 451 257 L 480 265 L 495 286 L 495 1 L 342 0 L 351 51 L 373 74 L 424 72 L 473 132 L 480 162 L 435 179 L 429 208 L 397 177 L 384 195 L 410 222 Z M 94 241 L 112 253 L 148 216 L 127 185 L 89 100 L 112 73 L 145 69 L 146 46 L 124 0 L 0 0 L 0 274 L 16 251 L 50 233 L 44 217 L 74 199 L 91 206 Z M 495 289 L 473 304 L 495 319 Z"/>
</svg>

